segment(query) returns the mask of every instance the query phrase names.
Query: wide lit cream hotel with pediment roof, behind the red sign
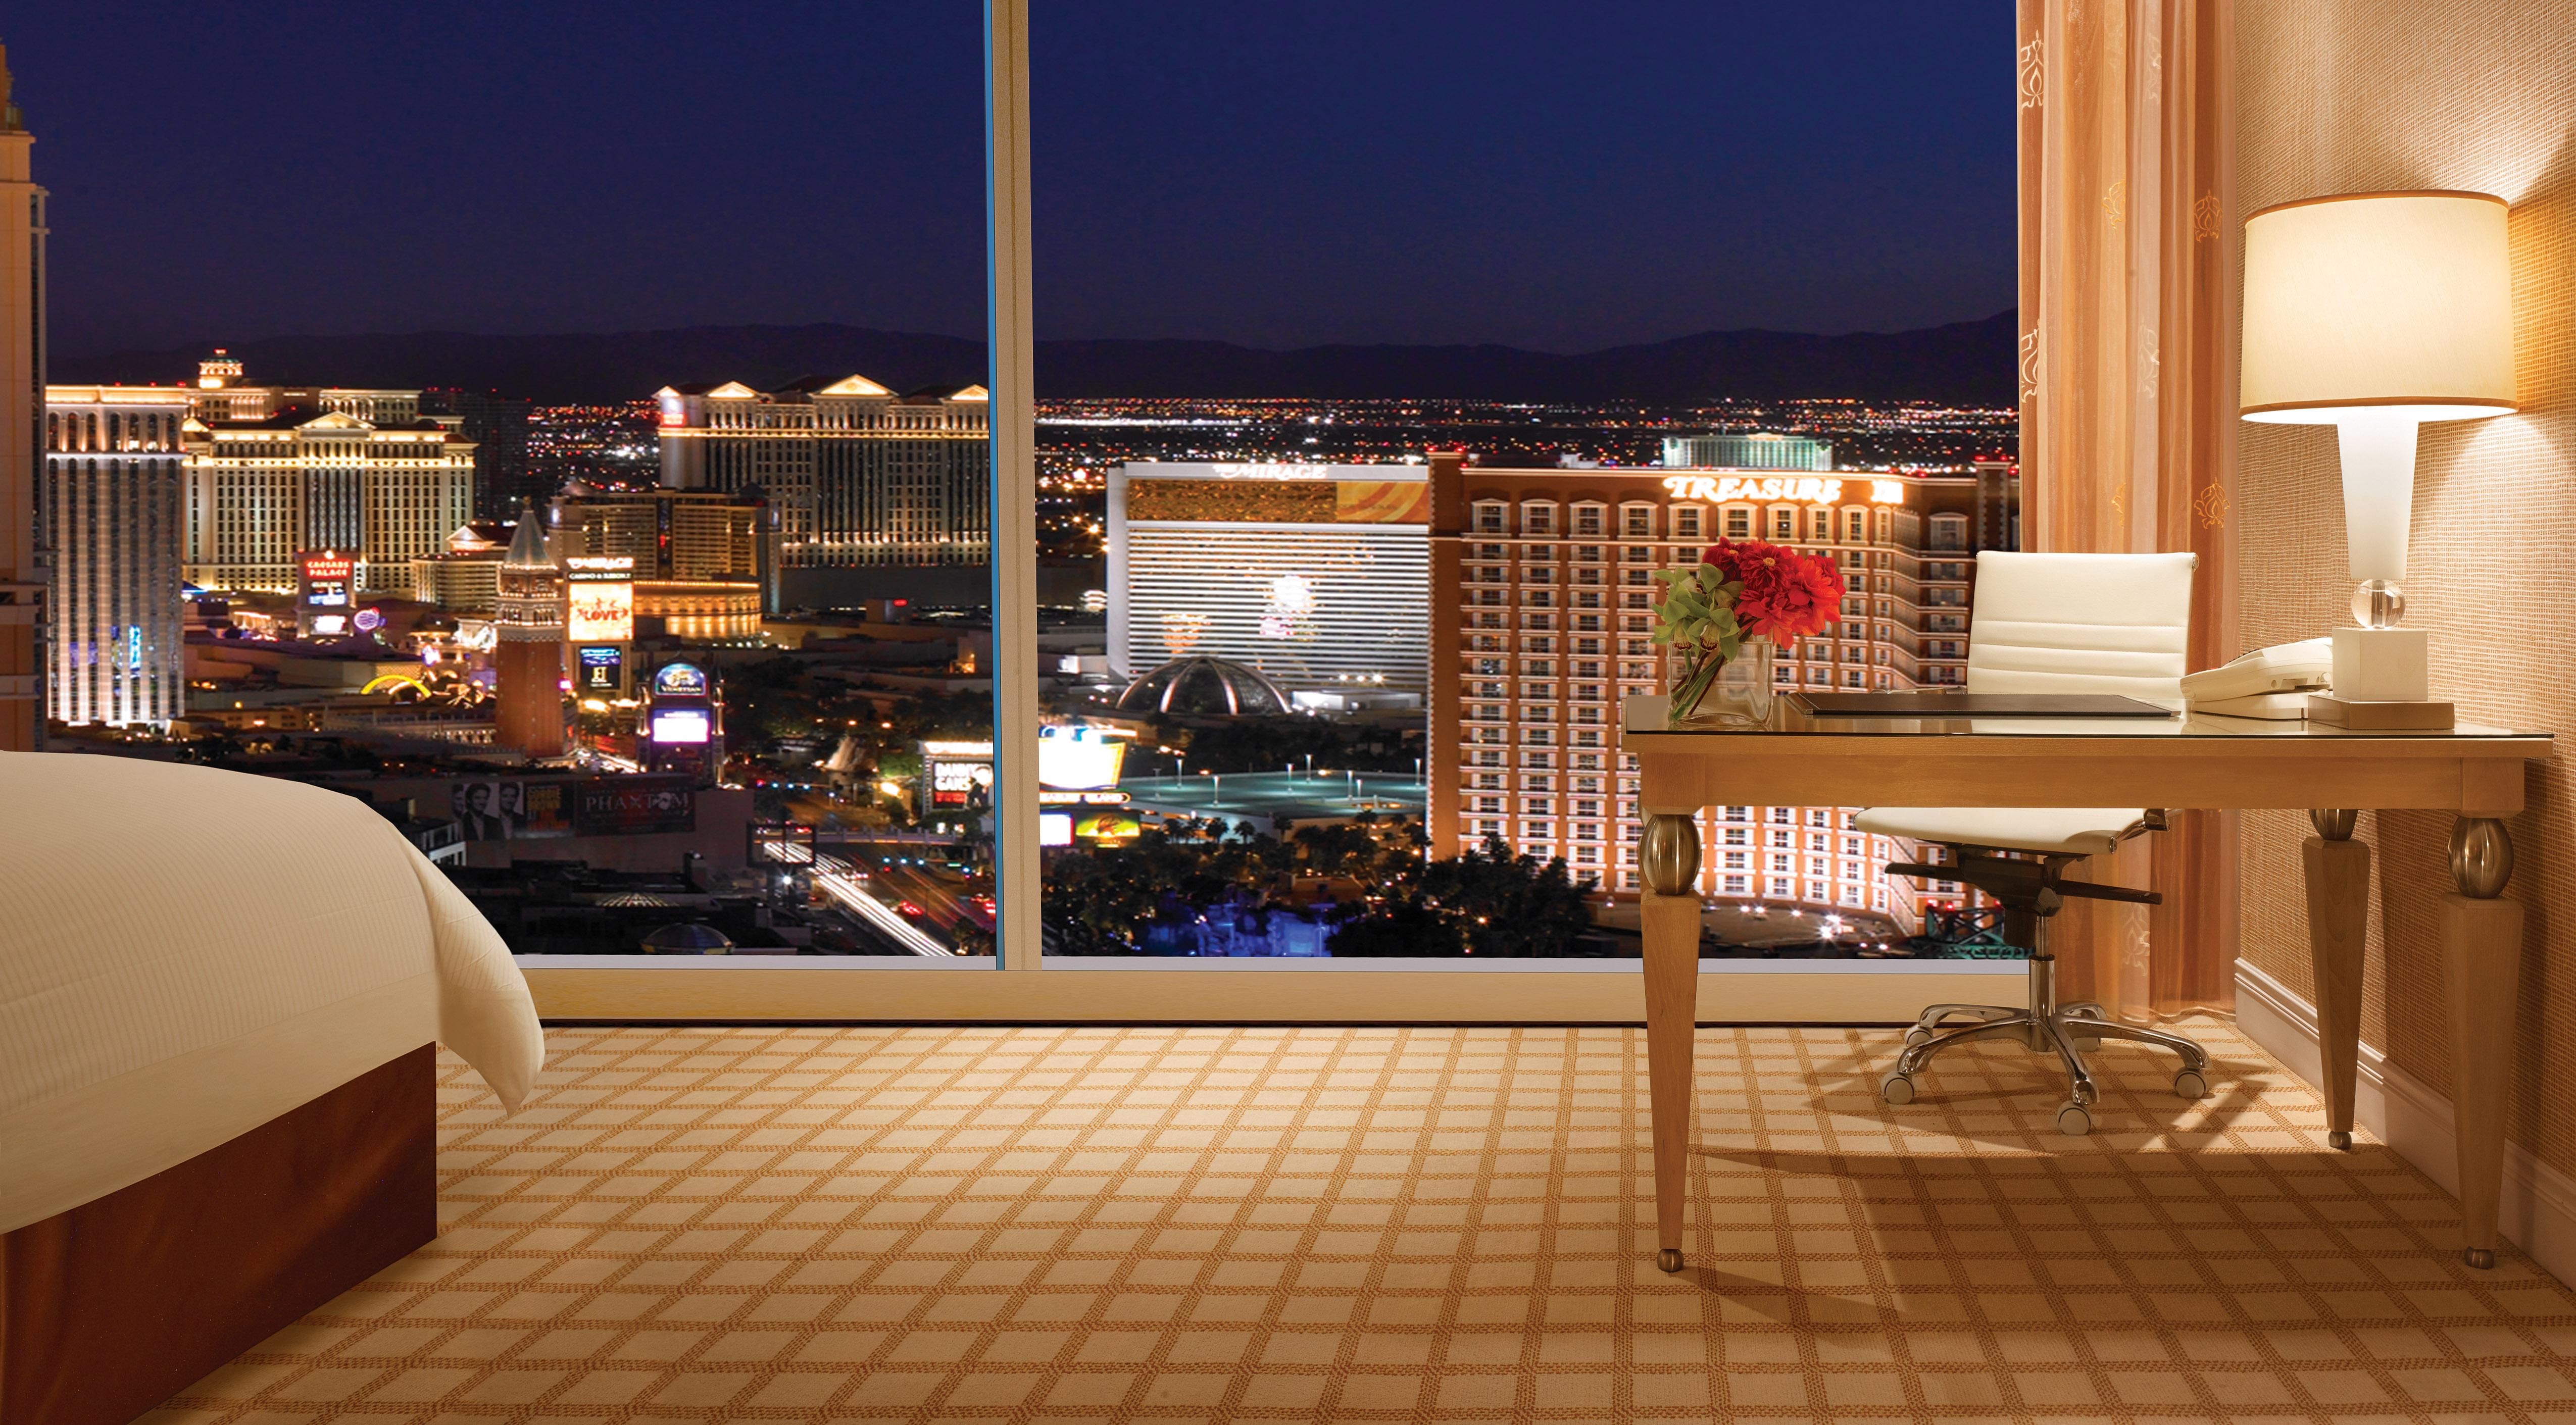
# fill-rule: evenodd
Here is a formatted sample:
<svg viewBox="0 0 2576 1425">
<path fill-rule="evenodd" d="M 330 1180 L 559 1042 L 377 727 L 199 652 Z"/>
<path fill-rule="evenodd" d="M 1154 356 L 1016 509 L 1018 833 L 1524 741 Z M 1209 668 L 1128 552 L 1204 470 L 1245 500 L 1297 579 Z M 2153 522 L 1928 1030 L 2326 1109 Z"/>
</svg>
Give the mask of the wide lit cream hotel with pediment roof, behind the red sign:
<svg viewBox="0 0 2576 1425">
<path fill-rule="evenodd" d="M 185 577 L 211 590 L 294 590 L 299 549 L 358 559 L 361 590 L 407 590 L 412 559 L 474 515 L 474 443 L 420 392 L 245 387 L 198 366 L 188 428 Z"/>
</svg>

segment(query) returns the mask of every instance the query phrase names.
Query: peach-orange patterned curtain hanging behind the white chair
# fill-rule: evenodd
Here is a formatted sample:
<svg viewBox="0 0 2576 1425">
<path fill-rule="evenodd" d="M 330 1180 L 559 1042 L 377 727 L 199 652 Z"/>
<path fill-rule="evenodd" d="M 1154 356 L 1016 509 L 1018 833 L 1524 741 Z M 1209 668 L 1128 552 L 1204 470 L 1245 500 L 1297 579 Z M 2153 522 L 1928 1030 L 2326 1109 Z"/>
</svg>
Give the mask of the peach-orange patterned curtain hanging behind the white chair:
<svg viewBox="0 0 2576 1425">
<path fill-rule="evenodd" d="M 2017 0 L 2022 546 L 2200 554 L 2192 667 L 2233 657 L 2233 0 Z M 2233 817 L 2187 812 L 2092 874 L 2066 997 L 2128 1020 L 2233 1008 Z M 2076 910 L 2087 907 L 2087 910 Z"/>
</svg>

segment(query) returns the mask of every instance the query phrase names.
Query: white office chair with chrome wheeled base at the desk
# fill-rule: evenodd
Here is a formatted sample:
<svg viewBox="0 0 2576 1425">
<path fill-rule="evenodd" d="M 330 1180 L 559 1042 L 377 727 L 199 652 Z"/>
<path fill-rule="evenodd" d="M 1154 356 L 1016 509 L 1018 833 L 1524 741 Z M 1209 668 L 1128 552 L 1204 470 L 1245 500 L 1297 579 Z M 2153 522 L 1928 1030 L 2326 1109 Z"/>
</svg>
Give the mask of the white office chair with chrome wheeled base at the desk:
<svg viewBox="0 0 2576 1425">
<path fill-rule="evenodd" d="M 1968 616 L 1971 693 L 2128 693 L 2182 698 L 2197 554 L 1978 554 Z M 2071 1080 L 2058 1131 L 2089 1134 L 2094 1085 L 2084 1054 L 2105 1038 L 2154 1044 L 2182 1057 L 2174 1093 L 2208 1093 L 2210 1057 L 2154 1028 L 2110 1023 L 2102 1005 L 2058 1005 L 2048 917 L 2066 897 L 2156 904 L 2125 886 L 2069 881 L 2063 871 L 2133 835 L 2164 830 L 2148 807 L 1873 807 L 1860 830 L 1950 848 L 1953 866 L 1899 863 L 1899 876 L 1965 881 L 2004 907 L 2004 938 L 2030 951 L 2030 1005 L 1932 1005 L 1906 1031 L 1906 1051 L 1878 1090 L 1914 1100 L 1914 1075 L 1971 1038 L 2020 1038 L 2058 1054 Z M 1976 1020 L 1942 1033 L 1945 1020 Z"/>
</svg>

